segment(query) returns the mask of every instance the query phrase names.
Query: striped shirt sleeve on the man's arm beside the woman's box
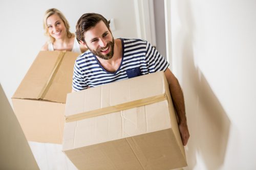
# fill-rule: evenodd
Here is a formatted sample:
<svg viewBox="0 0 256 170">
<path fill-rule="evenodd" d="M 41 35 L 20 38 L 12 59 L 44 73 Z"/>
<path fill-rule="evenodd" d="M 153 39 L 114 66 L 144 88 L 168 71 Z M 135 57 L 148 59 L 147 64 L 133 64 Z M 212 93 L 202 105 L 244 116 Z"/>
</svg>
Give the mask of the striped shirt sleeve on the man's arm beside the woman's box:
<svg viewBox="0 0 256 170">
<path fill-rule="evenodd" d="M 72 89 L 74 91 L 79 91 L 83 89 L 87 89 L 88 85 L 84 79 L 82 71 L 80 70 L 79 65 L 77 62 L 74 64 L 74 72 L 73 72 L 73 82 L 72 82 Z"/>
</svg>

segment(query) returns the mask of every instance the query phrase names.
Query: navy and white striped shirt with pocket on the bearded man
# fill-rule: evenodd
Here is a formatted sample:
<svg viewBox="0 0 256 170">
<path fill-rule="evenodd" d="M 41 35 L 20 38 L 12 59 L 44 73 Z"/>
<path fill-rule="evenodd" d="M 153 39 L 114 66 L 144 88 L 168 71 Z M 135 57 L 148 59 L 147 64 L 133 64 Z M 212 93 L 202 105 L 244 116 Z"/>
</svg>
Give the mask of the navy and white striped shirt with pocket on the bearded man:
<svg viewBox="0 0 256 170">
<path fill-rule="evenodd" d="M 147 41 L 120 38 L 122 61 L 116 72 L 106 71 L 90 50 L 77 57 L 74 65 L 73 90 L 83 90 L 156 71 L 165 71 L 169 63 Z"/>
</svg>

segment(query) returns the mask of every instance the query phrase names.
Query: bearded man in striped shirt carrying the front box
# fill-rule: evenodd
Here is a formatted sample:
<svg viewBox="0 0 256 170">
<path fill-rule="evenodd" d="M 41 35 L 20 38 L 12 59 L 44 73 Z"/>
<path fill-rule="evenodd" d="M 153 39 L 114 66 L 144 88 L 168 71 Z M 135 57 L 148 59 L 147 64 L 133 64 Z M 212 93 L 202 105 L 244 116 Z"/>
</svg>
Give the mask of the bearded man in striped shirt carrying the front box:
<svg viewBox="0 0 256 170">
<path fill-rule="evenodd" d="M 76 37 L 89 50 L 76 59 L 74 91 L 163 70 L 177 111 L 182 142 L 187 144 L 189 132 L 181 87 L 168 62 L 150 43 L 141 39 L 114 39 L 110 21 L 96 13 L 79 18 Z"/>
</svg>

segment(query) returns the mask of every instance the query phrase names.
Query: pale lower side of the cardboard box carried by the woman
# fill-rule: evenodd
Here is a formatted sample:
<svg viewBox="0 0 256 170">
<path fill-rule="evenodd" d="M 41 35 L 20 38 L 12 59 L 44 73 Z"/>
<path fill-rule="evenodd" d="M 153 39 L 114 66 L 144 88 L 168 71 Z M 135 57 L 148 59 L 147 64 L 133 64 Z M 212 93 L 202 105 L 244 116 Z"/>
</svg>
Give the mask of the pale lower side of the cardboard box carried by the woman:
<svg viewBox="0 0 256 170">
<path fill-rule="evenodd" d="M 26 99 L 12 103 L 27 140 L 62 143 L 65 104 Z"/>
</svg>

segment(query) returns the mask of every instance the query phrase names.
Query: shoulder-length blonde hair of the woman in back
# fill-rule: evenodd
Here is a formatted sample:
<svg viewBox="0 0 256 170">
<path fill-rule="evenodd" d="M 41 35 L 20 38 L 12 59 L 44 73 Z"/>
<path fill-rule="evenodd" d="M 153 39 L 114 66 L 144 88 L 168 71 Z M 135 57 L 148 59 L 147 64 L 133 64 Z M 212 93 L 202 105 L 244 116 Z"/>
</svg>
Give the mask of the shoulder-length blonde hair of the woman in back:
<svg viewBox="0 0 256 170">
<path fill-rule="evenodd" d="M 60 19 L 64 22 L 64 25 L 66 27 L 66 30 L 67 30 L 67 36 L 68 38 L 71 38 L 72 37 L 72 33 L 69 31 L 70 29 L 70 26 L 69 26 L 69 21 L 66 19 L 66 17 L 59 11 L 57 10 L 56 8 L 51 8 L 49 10 L 46 11 L 45 13 L 45 17 L 44 17 L 44 30 L 45 30 L 45 35 L 46 36 L 49 36 L 50 37 L 50 41 L 51 42 L 54 42 L 55 41 L 55 38 L 53 38 L 50 33 L 49 33 L 49 30 L 48 30 L 48 27 L 47 27 L 47 18 L 52 16 L 53 14 L 57 14 Z"/>
</svg>

